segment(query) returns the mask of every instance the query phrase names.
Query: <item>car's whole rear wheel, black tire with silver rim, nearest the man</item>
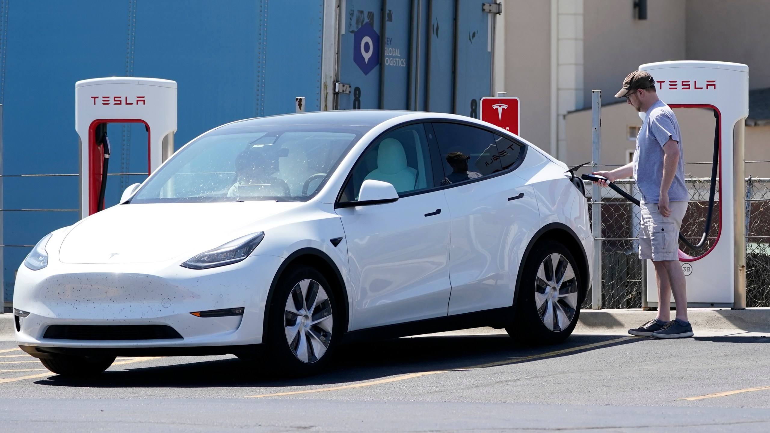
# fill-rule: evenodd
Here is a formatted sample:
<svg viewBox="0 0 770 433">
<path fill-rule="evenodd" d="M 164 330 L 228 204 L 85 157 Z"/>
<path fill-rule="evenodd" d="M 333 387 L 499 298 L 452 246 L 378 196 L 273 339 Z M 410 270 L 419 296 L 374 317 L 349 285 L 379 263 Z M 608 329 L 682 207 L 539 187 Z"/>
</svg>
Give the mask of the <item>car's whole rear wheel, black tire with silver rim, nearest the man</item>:
<svg viewBox="0 0 770 433">
<path fill-rule="evenodd" d="M 585 296 L 577 262 L 555 240 L 537 243 L 526 260 L 516 315 L 505 330 L 523 344 L 560 343 L 572 334 Z"/>
</svg>

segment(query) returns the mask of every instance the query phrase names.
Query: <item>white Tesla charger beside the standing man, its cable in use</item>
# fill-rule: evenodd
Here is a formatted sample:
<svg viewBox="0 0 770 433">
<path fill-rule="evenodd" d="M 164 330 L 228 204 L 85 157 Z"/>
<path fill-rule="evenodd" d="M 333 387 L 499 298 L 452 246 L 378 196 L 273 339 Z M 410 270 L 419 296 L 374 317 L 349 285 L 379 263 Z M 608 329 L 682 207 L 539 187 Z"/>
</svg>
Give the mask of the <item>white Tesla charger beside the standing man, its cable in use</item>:
<svg viewBox="0 0 770 433">
<path fill-rule="evenodd" d="M 743 136 L 748 116 L 748 66 L 728 62 L 658 62 L 639 66 L 656 82 L 658 97 L 671 108 L 715 110 L 719 140 L 718 234 L 697 256 L 679 253 L 687 279 L 688 307 L 745 308 L 745 180 Z M 688 154 L 685 162 L 703 160 Z M 718 218 L 716 218 L 718 216 Z M 711 230 L 709 237 L 714 237 Z M 658 307 L 658 288 L 647 262 L 647 300 Z"/>
</svg>

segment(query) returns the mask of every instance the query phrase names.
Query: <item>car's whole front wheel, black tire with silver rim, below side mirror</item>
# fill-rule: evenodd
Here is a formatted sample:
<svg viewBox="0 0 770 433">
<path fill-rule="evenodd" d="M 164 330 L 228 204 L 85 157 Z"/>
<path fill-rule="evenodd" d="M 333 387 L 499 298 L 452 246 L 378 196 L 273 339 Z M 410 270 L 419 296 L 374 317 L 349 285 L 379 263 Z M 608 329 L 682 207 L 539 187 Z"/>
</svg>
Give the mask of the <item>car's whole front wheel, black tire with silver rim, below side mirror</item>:
<svg viewBox="0 0 770 433">
<path fill-rule="evenodd" d="M 273 370 L 301 377 L 323 370 L 342 328 L 329 281 L 318 270 L 296 266 L 276 285 L 268 318 L 267 361 Z"/>
</svg>

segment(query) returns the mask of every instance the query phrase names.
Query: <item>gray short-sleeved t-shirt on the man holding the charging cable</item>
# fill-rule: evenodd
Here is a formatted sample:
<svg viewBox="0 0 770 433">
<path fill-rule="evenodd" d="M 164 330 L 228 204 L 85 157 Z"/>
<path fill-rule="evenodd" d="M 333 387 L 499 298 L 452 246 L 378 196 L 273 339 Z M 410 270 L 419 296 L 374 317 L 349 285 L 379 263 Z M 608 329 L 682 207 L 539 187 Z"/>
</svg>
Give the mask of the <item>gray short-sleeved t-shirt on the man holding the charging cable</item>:
<svg viewBox="0 0 770 433">
<path fill-rule="evenodd" d="M 642 203 L 658 203 L 663 180 L 663 146 L 669 139 L 679 144 L 679 161 L 676 175 L 668 189 L 668 201 L 689 200 L 685 186 L 685 152 L 681 147 L 679 123 L 674 112 L 662 101 L 658 101 L 647 110 L 647 117 L 636 137 L 634 180 L 641 191 Z"/>
</svg>

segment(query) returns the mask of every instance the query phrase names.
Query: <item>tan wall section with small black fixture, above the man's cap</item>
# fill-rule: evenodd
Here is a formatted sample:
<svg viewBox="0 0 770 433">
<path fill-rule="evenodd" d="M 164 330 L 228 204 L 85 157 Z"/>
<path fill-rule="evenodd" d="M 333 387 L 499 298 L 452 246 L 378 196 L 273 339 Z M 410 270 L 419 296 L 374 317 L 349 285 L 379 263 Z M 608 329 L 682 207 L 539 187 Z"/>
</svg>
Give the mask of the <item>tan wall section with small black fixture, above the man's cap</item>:
<svg viewBox="0 0 770 433">
<path fill-rule="evenodd" d="M 623 79 L 643 63 L 685 59 L 685 0 L 649 0 L 646 21 L 634 18 L 632 3 L 584 0 L 584 106 L 592 89 L 602 90 L 603 103 L 614 102 Z"/>
</svg>

